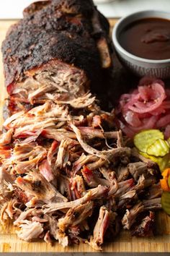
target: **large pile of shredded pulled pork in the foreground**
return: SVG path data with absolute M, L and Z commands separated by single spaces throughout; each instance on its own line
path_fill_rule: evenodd
M 153 234 L 161 208 L 156 163 L 126 145 L 114 114 L 90 93 L 19 111 L 4 130 L 0 221 L 11 219 L 20 239 L 100 250 L 121 229 Z

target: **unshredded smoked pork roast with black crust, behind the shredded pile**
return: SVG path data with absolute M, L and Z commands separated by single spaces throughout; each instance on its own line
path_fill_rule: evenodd
M 71 100 L 89 86 L 94 92 L 102 88 L 112 67 L 112 43 L 109 23 L 93 1 L 37 1 L 23 14 L 2 44 L 13 108 L 17 101 Z

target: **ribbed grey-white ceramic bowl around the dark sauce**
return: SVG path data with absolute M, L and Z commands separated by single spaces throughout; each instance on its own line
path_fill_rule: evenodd
M 144 75 L 159 78 L 170 77 L 170 59 L 153 60 L 140 58 L 130 54 L 120 46 L 118 38 L 122 29 L 135 20 L 148 17 L 157 17 L 169 20 L 170 12 L 148 10 L 135 12 L 126 17 L 122 17 L 122 19 L 116 23 L 112 31 L 112 40 L 115 46 L 115 51 L 122 64 L 140 77 Z

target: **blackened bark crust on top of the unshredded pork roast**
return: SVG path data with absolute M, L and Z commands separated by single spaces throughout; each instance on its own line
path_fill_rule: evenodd
M 24 18 L 9 29 L 2 44 L 6 86 L 55 59 L 83 69 L 91 83 L 100 82 L 97 39 L 104 36 L 109 41 L 109 25 L 99 14 L 100 30 L 96 33 L 94 12 L 91 0 L 40 1 L 27 7 Z

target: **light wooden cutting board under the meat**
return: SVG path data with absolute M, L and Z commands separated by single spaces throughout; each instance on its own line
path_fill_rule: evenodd
M 9 26 L 14 20 L 0 20 L 0 45 Z M 109 20 L 111 26 L 116 20 Z M 2 124 L 2 107 L 6 90 L 0 53 L 0 124 Z M 131 237 L 128 231 L 122 231 L 112 243 L 103 247 L 104 252 L 170 252 L 170 217 L 163 212 L 156 216 L 157 235 L 152 238 Z M 5 229 L 0 226 L 0 252 L 94 252 L 88 244 L 80 244 L 63 249 L 57 242 L 51 247 L 45 242 L 23 242 L 17 239 L 16 230 L 9 224 Z

